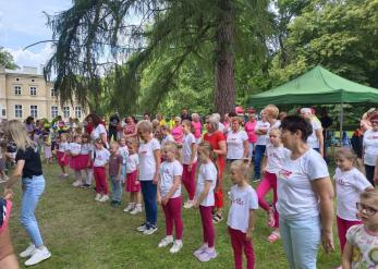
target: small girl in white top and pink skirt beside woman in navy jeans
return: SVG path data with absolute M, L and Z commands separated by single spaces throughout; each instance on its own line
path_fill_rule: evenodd
M 138 143 L 136 140 L 130 142 L 129 157 L 126 166 L 126 187 L 125 191 L 130 193 L 130 203 L 124 212 L 137 215 L 142 212 L 142 197 L 141 197 L 141 182 L 138 181 L 139 157 L 137 155 Z

